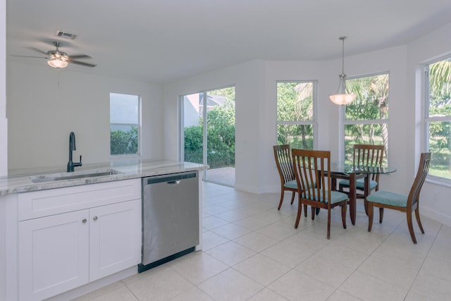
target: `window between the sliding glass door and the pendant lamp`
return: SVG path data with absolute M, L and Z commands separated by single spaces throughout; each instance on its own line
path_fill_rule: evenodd
M 277 82 L 277 142 L 314 148 L 316 82 Z

